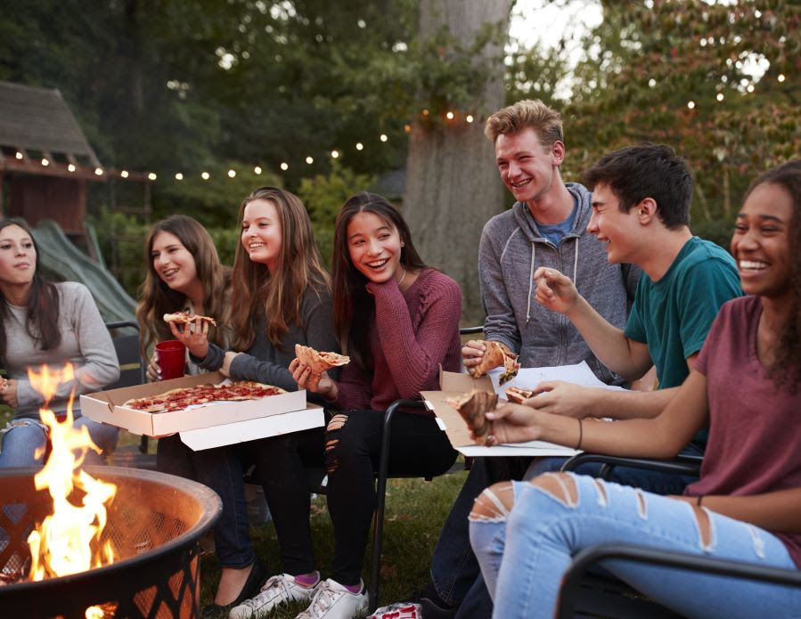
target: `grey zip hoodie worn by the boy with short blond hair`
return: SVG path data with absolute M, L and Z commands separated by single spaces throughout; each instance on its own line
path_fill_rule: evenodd
M 577 183 L 565 186 L 578 199 L 578 212 L 558 248 L 540 234 L 522 202 L 484 226 L 478 246 L 484 336 L 518 353 L 524 368 L 585 360 L 599 379 L 620 384 L 621 379 L 595 358 L 567 317 L 535 300 L 534 272 L 550 266 L 573 280 L 579 294 L 601 316 L 623 329 L 640 278 L 636 266 L 610 265 L 601 241 L 587 232 L 592 194 Z

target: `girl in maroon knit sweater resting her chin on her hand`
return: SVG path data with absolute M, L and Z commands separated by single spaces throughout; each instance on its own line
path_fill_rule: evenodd
M 383 409 L 399 398 L 437 389 L 440 365 L 460 370 L 462 293 L 422 262 L 409 228 L 388 200 L 359 193 L 337 217 L 333 256 L 334 327 L 351 362 L 339 381 L 314 375 L 296 359 L 298 385 L 342 412 L 328 426 L 328 509 L 334 525 L 331 578 L 303 617 L 351 617 L 364 611 L 360 579 L 375 505 Z M 392 423 L 389 473 L 434 476 L 456 458 L 432 415 L 398 412 Z

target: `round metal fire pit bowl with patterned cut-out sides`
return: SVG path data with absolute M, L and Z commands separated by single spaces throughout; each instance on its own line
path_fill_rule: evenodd
M 0 471 L 0 576 L 27 575 L 28 536 L 52 509 L 34 487 L 37 468 Z M 153 471 L 87 467 L 118 485 L 102 542 L 114 563 L 38 582 L 0 586 L 7 617 L 195 617 L 200 606 L 200 535 L 219 516 L 217 494 L 181 477 Z M 2 585 L 2 583 L 0 583 Z M 99 607 L 87 614 L 87 608 Z

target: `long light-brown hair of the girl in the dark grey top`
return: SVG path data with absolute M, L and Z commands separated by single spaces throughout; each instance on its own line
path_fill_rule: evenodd
M 300 325 L 300 304 L 306 289 L 309 286 L 318 292 L 331 289 L 331 281 L 315 244 L 312 222 L 298 196 L 275 187 L 259 187 L 242 200 L 240 228 L 245 207 L 253 200 L 274 204 L 281 221 L 281 251 L 274 273 L 270 273 L 266 265 L 250 260 L 241 243 L 237 245 L 233 259 L 233 289 L 237 302 L 231 308 L 232 347 L 247 350 L 253 344 L 254 325 L 258 315 L 264 312 L 267 339 L 281 349 L 281 340 L 290 325 Z

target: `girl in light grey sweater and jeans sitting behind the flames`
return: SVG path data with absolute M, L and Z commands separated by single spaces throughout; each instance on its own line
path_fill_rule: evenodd
M 45 281 L 38 270 L 36 243 L 21 220 L 0 222 L 0 361 L 8 374 L 0 391 L 14 419 L 3 430 L 0 468 L 41 464 L 47 428 L 39 420 L 43 395 L 31 386 L 29 368 L 61 369 L 72 363 L 75 378 L 61 383 L 48 408 L 65 413 L 69 394 L 102 389 L 119 378 L 119 365 L 109 331 L 89 290 L 74 281 Z M 86 427 L 102 454 L 117 446 L 117 428 L 80 416 L 74 424 Z M 37 457 L 38 454 L 38 457 Z M 99 462 L 90 451 L 87 461 Z

